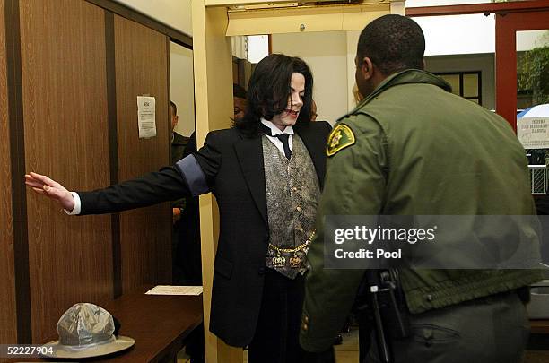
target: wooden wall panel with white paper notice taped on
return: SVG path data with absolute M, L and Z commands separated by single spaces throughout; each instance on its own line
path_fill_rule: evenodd
M 170 162 L 168 39 L 136 22 L 115 16 L 118 176 L 123 181 Z M 156 99 L 156 133 L 139 139 L 137 96 Z M 171 281 L 169 203 L 120 215 L 122 290 Z

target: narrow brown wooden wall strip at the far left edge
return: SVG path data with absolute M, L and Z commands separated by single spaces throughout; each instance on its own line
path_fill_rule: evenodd
M 0 344 L 17 341 L 4 0 L 0 0 Z

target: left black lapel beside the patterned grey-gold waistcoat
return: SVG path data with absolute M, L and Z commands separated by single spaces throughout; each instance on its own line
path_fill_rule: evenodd
M 234 144 L 234 149 L 240 163 L 242 176 L 248 184 L 249 193 L 256 202 L 257 209 L 267 222 L 266 211 L 266 186 L 265 186 L 265 169 L 263 166 L 263 146 L 261 144 L 261 136 L 248 138 L 240 136 L 240 142 Z

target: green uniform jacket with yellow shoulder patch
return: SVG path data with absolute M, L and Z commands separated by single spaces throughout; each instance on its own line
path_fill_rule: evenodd
M 393 74 L 339 120 L 346 127 L 332 131 L 318 235 L 308 255 L 305 350 L 329 348 L 364 273 L 324 269 L 324 216 L 536 214 L 525 152 L 510 125 L 449 91 L 449 84 L 431 73 Z M 531 248 L 539 248 L 536 238 Z M 542 278 L 536 270 L 408 269 L 400 275 L 412 314 Z

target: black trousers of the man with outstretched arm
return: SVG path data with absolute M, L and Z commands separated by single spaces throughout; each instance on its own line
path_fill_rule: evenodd
M 305 295 L 304 277 L 295 280 L 266 269 L 256 333 L 248 346 L 249 363 L 301 363 L 299 336 Z

